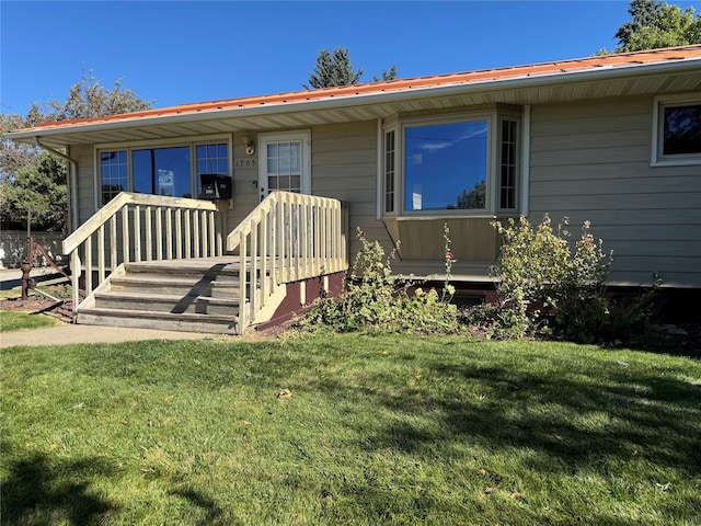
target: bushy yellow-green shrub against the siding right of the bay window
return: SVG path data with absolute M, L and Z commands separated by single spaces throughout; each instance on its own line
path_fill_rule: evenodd
M 604 252 L 589 221 L 573 245 L 568 224 L 564 217 L 553 229 L 548 215 L 536 227 L 524 216 L 493 224 L 504 241 L 492 271 L 499 297 L 495 335 L 556 333 L 593 342 L 622 338 L 648 320 L 656 287 L 628 300 L 612 298 L 606 289 L 612 252 Z

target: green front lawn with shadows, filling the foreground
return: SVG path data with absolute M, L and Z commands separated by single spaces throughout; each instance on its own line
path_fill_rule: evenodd
M 701 523 L 689 358 L 356 334 L 0 359 L 2 524 Z

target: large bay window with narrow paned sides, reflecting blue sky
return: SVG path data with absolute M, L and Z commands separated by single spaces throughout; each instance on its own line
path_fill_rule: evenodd
M 518 117 L 494 111 L 441 121 L 407 119 L 399 130 L 399 144 L 395 128 L 384 132 L 386 215 L 516 211 Z

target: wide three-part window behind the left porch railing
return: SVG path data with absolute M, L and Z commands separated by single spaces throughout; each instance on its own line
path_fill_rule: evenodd
M 102 204 L 122 191 L 199 196 L 202 173 L 229 174 L 228 142 L 100 151 Z

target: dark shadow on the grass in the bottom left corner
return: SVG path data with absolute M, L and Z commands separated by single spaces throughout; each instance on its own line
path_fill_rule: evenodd
M 110 469 L 97 459 L 60 464 L 36 454 L 8 466 L 0 485 L 2 524 L 49 525 L 65 521 L 71 526 L 97 524 L 114 506 L 90 491 L 90 479 Z

